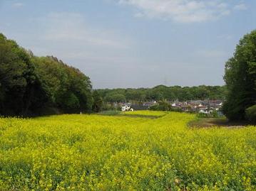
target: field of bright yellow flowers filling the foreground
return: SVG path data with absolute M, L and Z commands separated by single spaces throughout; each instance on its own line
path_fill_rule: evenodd
M 1 118 L 0 190 L 256 190 L 255 126 L 189 129 L 193 119 Z

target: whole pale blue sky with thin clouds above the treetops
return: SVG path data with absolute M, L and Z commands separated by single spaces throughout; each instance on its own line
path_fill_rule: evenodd
M 222 85 L 255 0 L 0 0 L 0 33 L 93 88 Z

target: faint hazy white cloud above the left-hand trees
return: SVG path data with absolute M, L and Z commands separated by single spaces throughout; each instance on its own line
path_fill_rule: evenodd
M 127 48 L 128 41 L 110 30 L 93 28 L 78 13 L 50 13 L 46 18 L 46 40 L 86 46 Z

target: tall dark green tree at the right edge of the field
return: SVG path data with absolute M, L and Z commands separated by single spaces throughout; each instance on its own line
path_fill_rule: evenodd
M 230 120 L 245 119 L 245 109 L 256 101 L 256 31 L 245 35 L 225 64 L 227 100 L 223 112 Z

